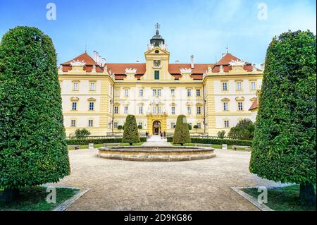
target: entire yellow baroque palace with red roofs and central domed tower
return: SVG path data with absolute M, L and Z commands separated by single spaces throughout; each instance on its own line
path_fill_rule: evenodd
M 165 40 L 156 35 L 145 63 L 106 63 L 97 51 L 58 68 L 67 135 L 86 128 L 92 135 L 120 133 L 134 114 L 140 133 L 173 133 L 178 115 L 187 116 L 191 133 L 228 133 L 243 118 L 255 120 L 256 93 L 263 72 L 232 54 L 218 63 L 170 63 Z M 198 128 L 194 128 L 197 126 Z M 121 131 L 122 132 L 122 131 Z

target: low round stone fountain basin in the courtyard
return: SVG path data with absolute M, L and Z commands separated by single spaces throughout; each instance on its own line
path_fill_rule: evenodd
M 99 147 L 98 156 L 105 159 L 118 159 L 144 162 L 174 162 L 216 157 L 211 147 L 187 146 L 118 146 Z

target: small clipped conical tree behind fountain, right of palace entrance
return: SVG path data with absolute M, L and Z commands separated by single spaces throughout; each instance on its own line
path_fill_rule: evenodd
M 178 120 L 176 122 L 175 132 L 173 136 L 173 144 L 184 145 L 185 143 L 190 143 L 189 128 L 186 116 L 180 115 L 178 116 Z

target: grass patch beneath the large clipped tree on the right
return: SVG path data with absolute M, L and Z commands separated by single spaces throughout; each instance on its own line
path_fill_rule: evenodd
M 258 198 L 257 188 L 244 188 L 245 193 Z M 315 186 L 316 192 L 316 186 Z M 266 205 L 275 211 L 316 211 L 314 206 L 301 206 L 297 204 L 299 185 L 268 189 L 268 203 Z

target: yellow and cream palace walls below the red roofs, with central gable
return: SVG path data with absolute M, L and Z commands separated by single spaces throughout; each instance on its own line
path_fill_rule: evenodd
M 159 54 L 154 54 L 156 50 L 159 50 Z M 150 134 L 153 134 L 154 121 L 161 122 L 161 130 L 173 133 L 172 123 L 176 124 L 180 114 L 185 114 L 187 122 L 192 123 L 191 133 L 213 136 L 220 130 L 228 133 L 242 118 L 254 121 L 255 116 L 249 107 L 256 98 L 256 90 L 261 89 L 261 71 L 247 72 L 236 65 L 228 73 L 213 73 L 209 70 L 203 80 L 193 80 L 190 71 L 185 70 L 181 72 L 180 80 L 175 80 L 168 72 L 168 51 L 155 47 L 144 55 L 147 70 L 140 80 L 135 78 L 133 70 L 127 71 L 124 80 L 115 80 L 106 70 L 103 73 L 88 73 L 84 71 L 83 65 L 74 66 L 68 72 L 58 70 L 67 135 L 73 135 L 78 128 L 87 128 L 91 135 L 120 133 L 116 127 L 124 124 L 128 114 L 134 114 L 137 123 L 142 123 L 141 133 L 148 131 Z M 154 60 L 161 61 L 159 68 L 153 66 Z M 160 71 L 159 80 L 154 79 L 154 71 Z M 223 82 L 228 85 L 226 91 L 222 90 Z M 237 90 L 237 82 L 242 83 L 242 90 Z M 256 83 L 254 90 L 251 90 L 251 82 Z M 73 90 L 74 83 L 77 83 L 78 90 Z M 89 90 L 91 83 L 95 83 L 95 90 Z M 139 95 L 140 89 L 143 90 L 143 96 Z M 161 96 L 154 96 L 154 90 L 161 90 Z M 175 95 L 172 95 L 171 90 L 174 90 Z M 187 96 L 189 90 L 190 97 Z M 125 96 L 127 93 L 128 96 Z M 77 102 L 76 110 L 72 110 L 73 102 Z M 94 102 L 94 110 L 89 110 L 90 102 Z M 223 110 L 223 102 L 228 102 L 228 111 Z M 238 109 L 238 102 L 242 102 L 242 110 Z M 118 107 L 118 113 L 115 107 Z M 128 111 L 125 111 L 125 107 L 128 107 Z M 142 112 L 139 107 L 142 107 Z M 175 114 L 172 114 L 173 107 Z M 188 112 L 189 107 L 191 114 Z M 197 107 L 200 107 L 201 114 L 197 114 Z M 75 121 L 75 126 L 72 126 L 72 121 Z M 89 126 L 89 121 L 93 121 L 92 126 Z M 196 130 L 194 125 L 198 123 L 201 128 Z M 228 127 L 225 127 L 225 123 Z

